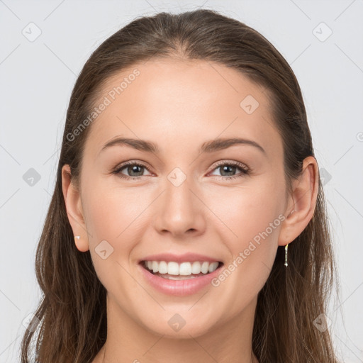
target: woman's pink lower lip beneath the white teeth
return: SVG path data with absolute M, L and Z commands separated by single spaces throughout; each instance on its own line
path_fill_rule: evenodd
M 172 296 L 189 296 L 196 294 L 208 284 L 211 284 L 211 280 L 217 277 L 220 273 L 221 267 L 223 267 L 223 264 L 215 271 L 200 277 L 194 277 L 192 279 L 186 280 L 169 280 L 164 279 L 164 277 L 152 274 L 141 264 L 139 264 L 141 273 L 152 287 L 154 287 L 157 291 L 162 292 L 163 294 L 168 294 Z

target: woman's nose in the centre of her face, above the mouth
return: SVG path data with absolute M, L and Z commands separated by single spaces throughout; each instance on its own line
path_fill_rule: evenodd
M 204 232 L 206 207 L 191 184 L 188 178 L 179 186 L 167 180 L 164 192 L 155 204 L 154 227 L 157 233 L 189 238 Z

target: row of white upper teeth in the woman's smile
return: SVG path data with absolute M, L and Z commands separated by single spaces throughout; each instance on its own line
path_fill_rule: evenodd
M 190 275 L 190 274 L 208 274 L 217 269 L 219 262 L 165 262 L 165 261 L 144 261 L 145 267 L 152 272 L 169 275 Z

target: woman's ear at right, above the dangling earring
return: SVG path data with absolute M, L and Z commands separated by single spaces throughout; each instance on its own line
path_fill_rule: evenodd
M 315 157 L 309 156 L 303 160 L 303 172 L 292 186 L 293 192 L 285 211 L 286 219 L 280 229 L 280 246 L 297 238 L 313 218 L 319 187 L 319 169 Z

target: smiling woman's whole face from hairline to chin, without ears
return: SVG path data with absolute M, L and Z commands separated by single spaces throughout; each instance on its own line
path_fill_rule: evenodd
M 70 221 L 87 231 L 78 229 L 108 313 L 169 337 L 251 315 L 286 215 L 283 146 L 266 89 L 211 62 L 149 60 L 109 79 L 102 102 L 88 126 L 81 217 Z M 177 280 L 165 278 L 168 268 Z

